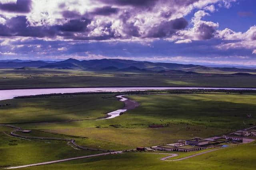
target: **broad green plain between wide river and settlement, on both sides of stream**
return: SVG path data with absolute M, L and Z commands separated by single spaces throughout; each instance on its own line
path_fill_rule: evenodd
M 256 110 L 253 94 L 131 95 L 129 98 L 140 102 L 139 107 L 114 119 L 95 121 L 123 106 L 104 96 L 108 95 L 6 100 L 11 105 L 0 109 L 0 123 L 84 137 L 77 142 L 88 147 L 123 150 L 220 135 L 250 127 L 256 121 L 255 117 L 246 117 Z M 75 119 L 82 121 L 63 121 Z M 152 124 L 164 127 L 149 128 Z

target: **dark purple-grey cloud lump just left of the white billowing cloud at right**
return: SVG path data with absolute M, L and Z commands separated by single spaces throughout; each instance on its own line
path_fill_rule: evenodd
M 160 23 L 155 27 L 152 27 L 147 34 L 147 37 L 162 38 L 173 35 L 177 30 L 184 29 L 188 25 L 188 21 L 184 18 L 177 18 Z

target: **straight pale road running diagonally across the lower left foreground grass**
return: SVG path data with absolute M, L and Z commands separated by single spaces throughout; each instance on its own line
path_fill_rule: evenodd
M 4 169 L 16 169 L 16 168 L 25 168 L 25 167 L 29 167 L 29 166 L 38 166 L 38 165 L 46 165 L 46 164 L 53 164 L 53 163 L 58 163 L 58 162 L 65 162 L 68 160 L 76 160 L 76 159 L 82 159 L 82 158 L 90 158 L 90 157 L 94 157 L 94 156 L 103 156 L 103 155 L 108 155 L 108 154 L 119 154 L 122 151 L 118 151 L 118 152 L 108 152 L 108 153 L 102 153 L 102 154 L 92 154 L 92 155 L 88 155 L 88 156 L 80 156 L 80 157 L 74 157 L 74 158 L 67 158 L 67 159 L 61 159 L 61 160 L 54 160 L 54 161 L 49 161 L 49 162 L 42 162 L 42 163 L 38 163 L 38 164 L 29 164 L 29 165 L 22 165 L 22 166 L 12 166 L 12 167 L 8 167 L 8 168 L 4 168 Z

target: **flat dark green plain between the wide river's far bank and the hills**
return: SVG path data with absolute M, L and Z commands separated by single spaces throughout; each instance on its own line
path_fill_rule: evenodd
M 154 81 L 152 81 L 154 80 Z M 0 89 L 98 86 L 256 87 L 256 76 L 0 69 Z

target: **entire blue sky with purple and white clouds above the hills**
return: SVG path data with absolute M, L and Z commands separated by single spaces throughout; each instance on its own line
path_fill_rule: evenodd
M 256 66 L 255 0 L 0 0 L 0 60 Z

